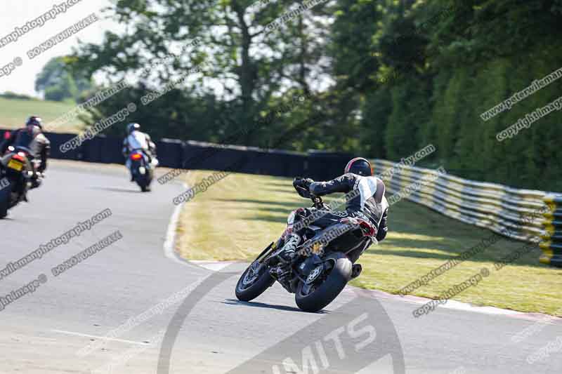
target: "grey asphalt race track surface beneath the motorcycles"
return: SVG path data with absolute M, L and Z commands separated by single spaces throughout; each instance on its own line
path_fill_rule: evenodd
M 540 316 L 445 307 L 414 319 L 412 310 L 420 306 L 415 300 L 377 292 L 357 296 L 353 288 L 319 314 L 300 312 L 293 296 L 277 285 L 255 302 L 237 302 L 233 273 L 244 265 L 233 265 L 230 274 L 212 281 L 219 273 L 164 253 L 175 208 L 171 201 L 182 191 L 176 182 L 156 183 L 152 193 L 142 194 L 122 167 L 53 163 L 44 186 L 30 193 L 30 203 L 0 221 L 0 268 L 77 221 L 105 208 L 113 214 L 0 280 L 4 296 L 39 274 L 47 278 L 0 312 L 0 373 L 107 373 L 104 368 L 117 361 L 112 373 L 562 373 L 562 351 L 526 361 L 562 337 L 559 320 L 537 325 Z M 121 240 L 53 276 L 52 267 L 115 230 Z M 203 279 L 211 280 L 209 285 L 196 288 L 186 301 L 102 339 Z M 338 330 L 345 339 L 350 323 L 357 327 L 361 315 L 363 327 L 375 326 L 372 334 L 365 333 L 368 329 L 355 334 L 341 347 L 343 358 L 334 359 L 336 339 L 326 336 Z M 529 326 L 542 328 L 522 342 L 512 340 Z M 359 347 L 361 342 L 365 345 Z M 86 356 L 77 353 L 98 343 Z M 285 368 L 283 361 L 297 368 Z

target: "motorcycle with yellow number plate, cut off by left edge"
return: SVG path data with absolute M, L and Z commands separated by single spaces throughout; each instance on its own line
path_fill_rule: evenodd
M 27 191 L 34 176 L 31 150 L 26 147 L 8 147 L 0 157 L 0 219 L 8 209 L 27 201 Z

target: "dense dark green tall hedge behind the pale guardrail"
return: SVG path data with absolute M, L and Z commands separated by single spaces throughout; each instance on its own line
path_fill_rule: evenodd
M 398 160 L 432 143 L 438 152 L 424 160 L 430 166 L 443 165 L 466 178 L 561 191 L 562 181 L 555 176 L 562 171 L 561 155 L 555 151 L 562 140 L 561 112 L 504 142 L 495 135 L 558 98 L 562 79 L 490 121 L 480 117 L 562 67 L 556 36 L 560 5 L 561 1 L 523 0 L 383 1 L 379 8 L 384 17 L 371 16 L 379 25 L 370 39 L 377 51 L 369 75 L 373 86 L 367 92 L 354 91 L 362 98 L 363 114 L 378 114 L 361 121 L 362 133 L 369 134 L 372 144 L 363 149 L 370 156 Z M 334 27 L 353 22 L 358 17 L 355 9 L 339 13 L 343 19 Z M 348 27 L 348 36 L 355 35 L 356 29 Z M 361 36 L 346 41 L 347 46 L 364 43 Z M 336 59 L 335 67 L 339 60 L 353 61 L 355 50 Z M 348 72 L 345 79 L 338 77 L 343 88 L 355 88 L 351 82 L 365 79 L 365 74 Z M 374 85 L 377 81 L 381 86 Z M 374 131 L 384 140 L 373 140 Z

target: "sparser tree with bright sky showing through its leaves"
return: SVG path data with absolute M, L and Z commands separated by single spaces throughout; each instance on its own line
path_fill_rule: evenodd
M 118 1 L 109 12 L 128 25 L 126 32 L 106 32 L 103 44 L 82 46 L 74 56 L 74 67 L 88 74 L 105 72 L 110 82 L 134 76 L 143 88 L 155 91 L 200 66 L 202 74 L 176 88 L 189 93 L 201 108 L 209 109 L 204 103 L 213 97 L 219 103 L 214 110 L 222 112 L 210 117 L 222 121 L 179 121 L 174 133 L 190 134 L 196 131 L 192 126 L 206 128 L 209 134 L 232 133 L 268 114 L 295 92 L 311 93 L 311 84 L 324 72 L 322 45 L 327 30 L 318 26 L 327 17 L 326 7 L 294 13 L 289 22 L 272 31 L 267 25 L 298 4 L 288 0 L 264 6 L 255 3 Z M 173 122 L 169 117 L 173 111 L 166 108 L 177 107 L 174 98 L 166 94 L 150 104 L 151 112 L 159 114 L 155 122 Z M 105 104 L 98 109 L 94 119 L 112 114 Z M 285 126 L 291 126 L 288 117 L 280 118 Z M 240 142 L 257 145 L 263 136 L 274 134 L 273 129 L 264 128 L 248 133 Z

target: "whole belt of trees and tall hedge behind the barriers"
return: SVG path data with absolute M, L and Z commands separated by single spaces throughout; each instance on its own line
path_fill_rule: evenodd
M 293 13 L 269 32 L 266 25 L 299 4 L 119 0 L 110 13 L 126 31 L 107 32 L 103 44 L 86 44 L 68 61 L 108 82 L 136 81 L 93 110 L 94 120 L 204 67 L 150 105 L 139 105 L 134 120 L 156 137 L 220 142 L 257 124 L 228 139 L 263 145 L 304 123 L 287 148 L 399 160 L 432 143 L 438 152 L 426 165 L 466 178 L 562 190 L 556 178 L 562 112 L 515 138 L 495 138 L 558 98 L 562 79 L 489 121 L 480 116 L 562 67 L 562 0 L 328 1 Z M 169 55 L 177 58 L 162 62 Z M 307 100 L 292 105 L 299 95 Z M 273 112 L 279 112 L 273 121 L 259 121 Z

